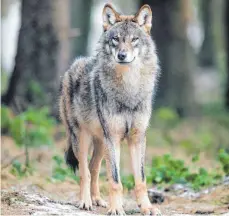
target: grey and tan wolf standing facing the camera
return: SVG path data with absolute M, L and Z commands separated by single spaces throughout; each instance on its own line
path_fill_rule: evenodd
M 68 139 L 66 161 L 79 168 L 79 208 L 107 207 L 99 191 L 99 171 L 106 160 L 108 214 L 125 214 L 120 179 L 120 143 L 127 140 L 137 203 L 143 214 L 155 214 L 144 172 L 146 129 L 159 74 L 150 36 L 152 11 L 144 5 L 122 15 L 110 4 L 102 13 L 103 33 L 96 54 L 75 60 L 60 87 L 60 116 Z M 93 153 L 88 164 L 88 149 Z

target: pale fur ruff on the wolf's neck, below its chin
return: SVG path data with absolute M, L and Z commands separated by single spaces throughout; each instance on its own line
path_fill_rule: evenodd
M 144 68 L 128 65 L 104 67 L 100 73 L 101 85 L 109 98 L 135 107 L 152 91 L 152 75 Z

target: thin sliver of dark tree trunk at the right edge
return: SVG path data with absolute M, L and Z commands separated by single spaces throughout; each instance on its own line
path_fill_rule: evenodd
M 225 39 L 226 39 L 226 71 L 227 71 L 227 85 L 226 85 L 226 107 L 229 110 L 229 1 L 226 0 L 225 4 Z

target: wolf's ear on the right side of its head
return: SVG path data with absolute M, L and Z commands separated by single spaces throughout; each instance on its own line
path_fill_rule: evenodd
M 138 13 L 135 15 L 134 20 L 141 26 L 143 29 L 150 34 L 152 27 L 152 11 L 149 5 L 143 5 Z

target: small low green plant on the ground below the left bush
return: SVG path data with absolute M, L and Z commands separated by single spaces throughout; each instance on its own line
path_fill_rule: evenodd
M 24 167 L 18 160 L 14 160 L 10 172 L 19 178 L 26 177 L 33 173 L 34 169 L 30 167 Z

